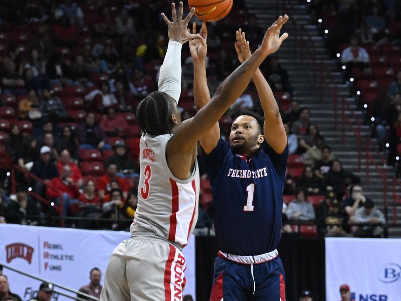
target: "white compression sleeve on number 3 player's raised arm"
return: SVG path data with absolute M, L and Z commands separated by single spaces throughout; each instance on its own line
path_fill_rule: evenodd
M 182 44 L 176 41 L 168 42 L 167 53 L 160 68 L 158 88 L 166 92 L 178 104 L 181 95 L 181 49 Z

